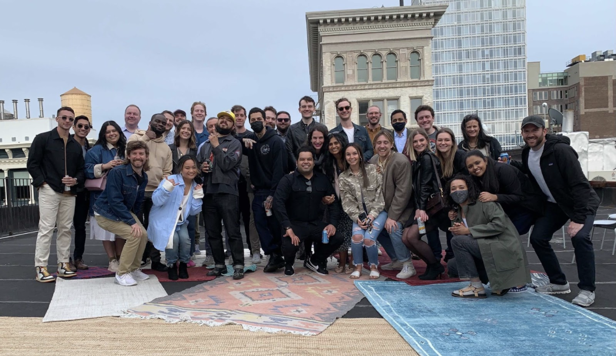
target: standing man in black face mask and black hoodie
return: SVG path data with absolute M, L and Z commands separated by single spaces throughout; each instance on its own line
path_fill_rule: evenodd
M 270 255 L 264 272 L 275 272 L 285 266 L 282 258 L 280 224 L 272 215 L 272 200 L 278 182 L 288 171 L 286 150 L 276 130 L 266 127 L 265 112 L 252 108 L 248 114 L 250 127 L 254 133 L 245 136 L 255 141 L 251 148 L 243 147 L 248 156 L 251 182 L 254 186 L 253 214 L 259 232 L 261 247 L 265 255 Z

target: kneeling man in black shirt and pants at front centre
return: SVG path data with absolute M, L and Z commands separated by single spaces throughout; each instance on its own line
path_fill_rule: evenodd
M 313 148 L 300 148 L 297 170 L 283 176 L 274 194 L 274 214 L 285 229 L 282 252 L 288 276 L 295 274 L 295 255 L 304 240 L 315 243 L 314 254 L 307 259 L 306 267 L 320 275 L 328 274 L 326 259 L 344 240 L 335 227 L 340 220 L 339 205 L 321 203 L 323 197 L 336 193 L 327 176 L 314 171 L 314 157 Z M 328 223 L 322 221 L 325 208 Z

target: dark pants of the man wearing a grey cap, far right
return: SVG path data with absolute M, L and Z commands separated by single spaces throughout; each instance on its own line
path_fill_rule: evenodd
M 578 233 L 571 238 L 575 261 L 578 268 L 578 287 L 581 290 L 594 291 L 594 250 L 593 240 L 590 232 L 593 229 L 595 215 L 587 215 L 584 226 Z M 535 227 L 530 233 L 530 244 L 533 245 L 535 253 L 545 273 L 549 277 L 549 282 L 559 285 L 567 283 L 567 277 L 562 272 L 561 265 L 558 263 L 556 253 L 552 250 L 549 240 L 552 239 L 554 232 L 561 229 L 567 223 L 567 216 L 562 209 L 551 202 L 546 203 L 545 214 L 535 221 Z M 563 236 L 565 239 L 566 236 Z

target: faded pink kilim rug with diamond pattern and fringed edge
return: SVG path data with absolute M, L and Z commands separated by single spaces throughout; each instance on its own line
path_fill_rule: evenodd
M 257 271 L 241 280 L 219 277 L 132 308 L 124 317 L 209 326 L 233 323 L 251 331 L 316 335 L 362 298 L 348 275 L 330 271 L 321 276 L 298 266 L 293 277 L 282 271 Z

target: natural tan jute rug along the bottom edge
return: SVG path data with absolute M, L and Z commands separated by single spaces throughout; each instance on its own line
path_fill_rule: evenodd
M 76 320 L 54 326 L 49 328 L 40 318 L 0 317 L 0 355 L 417 355 L 389 323 L 378 318 L 338 319 L 323 333 L 310 337 L 251 333 L 238 325 L 208 328 L 126 318 Z M 58 332 L 71 337 L 55 337 Z

